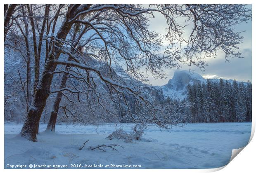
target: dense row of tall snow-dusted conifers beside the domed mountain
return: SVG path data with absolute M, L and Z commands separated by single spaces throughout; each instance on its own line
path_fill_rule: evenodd
M 251 122 L 251 82 L 212 80 L 188 84 L 182 101 L 166 99 L 183 115 L 183 122 Z M 187 108 L 180 109 L 187 103 Z

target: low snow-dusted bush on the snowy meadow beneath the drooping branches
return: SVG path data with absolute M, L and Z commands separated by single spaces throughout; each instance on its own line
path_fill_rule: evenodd
M 132 130 L 133 130 L 132 132 L 127 133 L 121 128 L 116 129 L 116 131 L 113 131 L 113 133 L 111 133 L 107 138 L 109 138 L 109 140 L 112 140 L 112 139 L 124 140 L 125 142 L 140 140 L 144 133 L 143 126 L 141 124 L 136 124 Z

